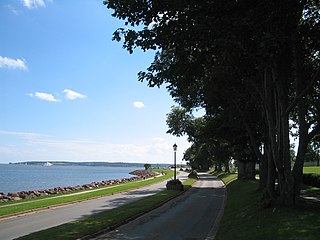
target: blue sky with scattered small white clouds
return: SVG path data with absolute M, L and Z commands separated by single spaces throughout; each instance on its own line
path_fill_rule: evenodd
M 0 163 L 172 163 L 176 105 L 137 80 L 154 52 L 129 54 L 102 0 L 0 1 Z

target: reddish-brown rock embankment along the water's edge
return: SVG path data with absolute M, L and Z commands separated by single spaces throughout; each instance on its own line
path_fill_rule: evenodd
M 151 177 L 154 177 L 157 175 L 157 173 L 155 173 L 155 172 L 146 171 L 146 170 L 136 170 L 136 171 L 130 172 L 130 174 L 136 175 L 136 177 L 105 180 L 105 181 L 101 181 L 101 182 L 92 182 L 89 184 L 77 185 L 74 187 L 71 187 L 71 186 L 56 187 L 56 188 L 46 189 L 46 190 L 11 192 L 8 194 L 0 193 L 0 202 L 18 201 L 18 200 L 22 200 L 22 199 L 31 199 L 31 198 L 35 198 L 35 197 L 41 197 L 41 196 L 48 196 L 48 195 L 68 193 L 68 192 L 73 192 L 73 191 L 94 189 L 94 188 L 99 188 L 99 187 L 116 185 L 116 184 L 120 184 L 120 183 L 133 182 L 133 181 L 137 181 L 137 180 L 141 180 L 141 179 L 151 178 Z

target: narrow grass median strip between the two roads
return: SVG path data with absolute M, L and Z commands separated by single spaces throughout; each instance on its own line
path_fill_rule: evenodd
M 195 179 L 186 180 L 183 185 L 187 190 L 195 182 Z M 165 190 L 155 195 L 145 197 L 141 200 L 127 205 L 107 210 L 78 221 L 62 224 L 40 232 L 19 238 L 20 240 L 71 240 L 88 235 L 94 235 L 101 231 L 110 230 L 130 219 L 134 219 L 156 207 L 161 206 L 170 199 L 180 195 L 181 191 Z

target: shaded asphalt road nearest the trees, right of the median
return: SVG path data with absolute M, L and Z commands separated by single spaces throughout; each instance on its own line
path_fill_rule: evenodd
M 94 240 L 213 239 L 223 213 L 225 188 L 209 174 L 176 200 Z

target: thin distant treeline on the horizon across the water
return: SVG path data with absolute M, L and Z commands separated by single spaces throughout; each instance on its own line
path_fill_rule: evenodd
M 20 165 L 44 165 L 47 161 L 26 161 L 10 164 L 20 164 Z M 50 161 L 53 165 L 59 166 L 99 166 L 99 167 L 139 167 L 144 168 L 144 163 L 126 163 L 126 162 L 66 162 L 66 161 Z M 151 164 L 153 168 L 166 168 L 169 164 Z

